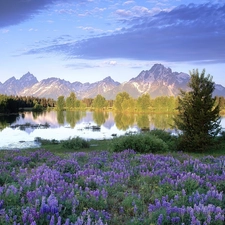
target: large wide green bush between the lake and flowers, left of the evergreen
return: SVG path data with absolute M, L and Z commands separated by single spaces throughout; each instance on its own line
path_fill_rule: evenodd
M 124 149 L 133 149 L 139 153 L 166 152 L 168 145 L 160 138 L 149 134 L 135 134 L 120 136 L 112 139 L 110 149 L 120 152 Z

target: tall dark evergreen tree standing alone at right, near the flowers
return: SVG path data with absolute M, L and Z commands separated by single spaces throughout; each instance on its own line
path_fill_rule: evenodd
M 181 146 L 187 151 L 203 151 L 221 130 L 219 105 L 212 96 L 215 89 L 210 75 L 205 70 L 190 73 L 189 92 L 181 90 L 178 98 L 179 114 L 175 126 L 182 131 Z

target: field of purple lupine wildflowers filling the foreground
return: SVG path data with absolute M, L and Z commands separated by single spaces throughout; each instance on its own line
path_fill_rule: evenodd
M 224 224 L 225 156 L 5 151 L 1 225 Z

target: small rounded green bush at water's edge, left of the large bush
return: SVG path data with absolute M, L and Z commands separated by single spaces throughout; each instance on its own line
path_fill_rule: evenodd
M 61 141 L 63 148 L 78 150 L 81 148 L 89 148 L 90 143 L 80 137 L 69 138 L 68 140 Z

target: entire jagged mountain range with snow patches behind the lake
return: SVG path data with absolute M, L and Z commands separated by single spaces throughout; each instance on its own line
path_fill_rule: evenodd
M 158 96 L 177 96 L 180 89 L 187 91 L 190 75 L 183 72 L 172 72 L 162 64 L 155 64 L 150 70 L 143 70 L 137 77 L 127 82 L 119 83 L 111 77 L 95 82 L 81 83 L 69 82 L 55 77 L 38 81 L 30 72 L 20 79 L 12 77 L 4 83 L 0 82 L 0 94 L 35 96 L 40 98 L 57 99 L 60 95 L 65 97 L 74 92 L 78 99 L 95 98 L 97 94 L 106 99 L 115 99 L 119 92 L 126 91 L 133 98 L 149 93 L 151 98 Z M 215 84 L 214 96 L 225 97 L 225 87 Z

